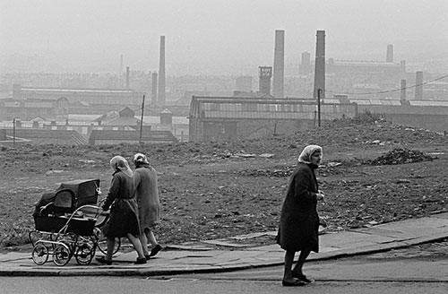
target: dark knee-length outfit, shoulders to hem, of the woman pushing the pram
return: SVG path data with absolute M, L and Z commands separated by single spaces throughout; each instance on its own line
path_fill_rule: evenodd
M 110 207 L 111 206 L 111 207 Z M 108 222 L 103 228 L 106 237 L 125 237 L 126 234 L 140 235 L 137 203 L 134 197 L 134 178 L 116 171 L 108 191 L 103 209 L 110 207 Z

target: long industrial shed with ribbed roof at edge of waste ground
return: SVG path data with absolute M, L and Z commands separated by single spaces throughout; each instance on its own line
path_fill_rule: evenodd
M 356 117 L 356 104 L 325 103 L 321 119 Z M 231 141 L 262 138 L 271 134 L 293 134 L 316 123 L 314 99 L 276 99 L 247 97 L 198 97 L 190 105 L 189 139 Z

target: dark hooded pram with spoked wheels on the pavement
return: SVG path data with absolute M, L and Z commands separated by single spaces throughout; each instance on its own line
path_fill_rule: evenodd
M 90 264 L 105 220 L 97 206 L 100 193 L 99 179 L 83 179 L 42 195 L 33 212 L 36 228 L 29 234 L 35 264 L 47 263 L 49 255 L 59 266 L 68 264 L 73 255 L 78 264 Z

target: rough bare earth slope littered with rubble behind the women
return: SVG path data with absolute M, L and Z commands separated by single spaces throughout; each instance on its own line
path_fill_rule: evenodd
M 163 244 L 277 229 L 289 175 L 309 143 L 323 146 L 317 177 L 326 202 L 318 209 L 329 230 L 426 216 L 448 208 L 447 142 L 379 121 L 236 143 L 0 147 L 1 247 L 28 242 L 43 193 L 64 181 L 99 178 L 104 196 L 108 160 L 118 154 L 130 160 L 137 151 L 159 172 Z

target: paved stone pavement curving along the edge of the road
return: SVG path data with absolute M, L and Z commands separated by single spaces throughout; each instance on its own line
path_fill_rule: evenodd
M 120 250 L 112 265 L 77 264 L 72 258 L 65 266 L 51 261 L 34 264 L 30 252 L 8 251 L 0 254 L 0 276 L 163 276 L 181 273 L 229 272 L 283 264 L 284 251 L 278 245 L 253 246 L 251 239 L 275 236 L 276 232 L 254 233 L 234 238 L 205 240 L 178 246 L 165 246 L 147 264 L 134 264 L 136 254 Z M 448 238 L 448 212 L 429 217 L 402 220 L 367 228 L 323 232 L 319 253 L 307 261 L 351 255 L 366 255 L 394 248 L 434 242 Z M 244 240 L 241 242 L 238 240 Z M 99 254 L 101 255 L 101 254 Z M 98 255 L 97 255 L 98 256 Z

